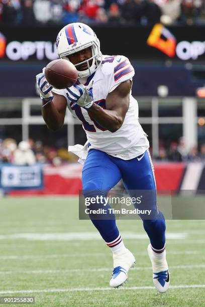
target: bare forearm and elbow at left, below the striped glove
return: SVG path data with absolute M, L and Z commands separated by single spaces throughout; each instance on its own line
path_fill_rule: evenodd
M 65 97 L 54 94 L 50 103 L 45 105 L 47 102 L 44 100 L 42 100 L 42 103 L 42 116 L 47 127 L 54 131 L 60 129 L 63 126 L 65 119 L 67 106 Z

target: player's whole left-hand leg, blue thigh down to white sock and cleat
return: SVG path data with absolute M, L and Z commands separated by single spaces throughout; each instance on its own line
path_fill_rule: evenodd
M 106 197 L 121 179 L 119 168 L 111 161 L 110 156 L 105 152 L 91 149 L 88 153 L 82 171 L 82 186 L 84 197 L 93 197 L 97 200 Z M 114 259 L 114 270 L 110 285 L 118 287 L 127 280 L 128 270 L 134 264 L 135 257 L 124 246 L 116 225 L 115 215 L 109 211 L 111 206 L 105 201 L 94 203 L 89 209 L 105 209 L 106 215 L 101 217 L 90 215 L 93 225 L 99 231 L 106 244 L 112 249 Z

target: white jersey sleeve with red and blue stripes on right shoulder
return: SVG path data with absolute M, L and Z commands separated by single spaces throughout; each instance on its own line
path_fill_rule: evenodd
M 132 80 L 135 70 L 128 58 L 117 56 L 113 62 L 113 74 L 110 78 L 109 93 L 112 92 L 120 83 Z

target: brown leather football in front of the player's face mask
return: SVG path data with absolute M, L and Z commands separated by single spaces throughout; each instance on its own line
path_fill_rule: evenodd
M 54 60 L 45 68 L 46 80 L 57 89 L 70 87 L 77 81 L 77 69 L 75 66 L 63 59 Z

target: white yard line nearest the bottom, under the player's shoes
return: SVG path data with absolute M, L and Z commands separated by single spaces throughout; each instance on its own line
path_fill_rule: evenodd
M 205 284 L 179 284 L 179 285 L 170 285 L 170 289 L 184 289 L 184 288 L 204 288 Z M 114 289 L 111 287 L 102 287 L 102 288 L 69 288 L 69 289 L 43 289 L 43 290 L 7 290 L 7 291 L 0 291 L 0 294 L 13 294 L 13 293 L 54 293 L 54 292 L 76 292 L 76 291 L 124 291 L 124 290 L 146 290 L 146 289 L 155 289 L 152 286 L 141 286 L 141 287 L 122 287 L 119 289 Z

